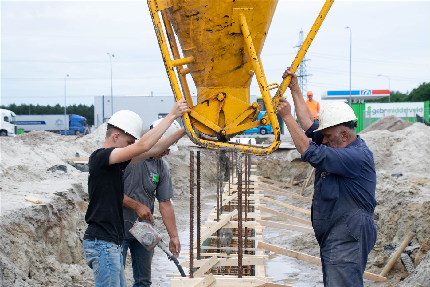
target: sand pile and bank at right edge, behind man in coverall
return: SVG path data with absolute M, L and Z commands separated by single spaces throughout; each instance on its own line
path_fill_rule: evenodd
M 411 256 L 417 266 L 429 250 L 430 128 L 415 123 L 399 131 L 369 131 L 361 136 L 374 153 L 377 171 L 374 217 L 378 237 L 368 267 L 381 271 L 388 260 L 384 244 L 402 242 L 409 232 L 415 233 L 413 242 L 421 245 Z M 396 282 L 405 272 L 398 261 L 388 278 Z

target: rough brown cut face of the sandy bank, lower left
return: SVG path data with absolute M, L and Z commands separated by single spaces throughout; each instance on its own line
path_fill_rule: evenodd
M 91 285 L 82 237 L 88 195 L 82 184 L 49 203 L 2 216 L 0 254 L 5 286 Z

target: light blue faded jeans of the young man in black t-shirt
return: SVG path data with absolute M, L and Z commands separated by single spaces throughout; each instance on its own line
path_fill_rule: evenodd
M 96 287 L 126 287 L 122 247 L 108 241 L 83 240 L 86 264 L 94 274 Z

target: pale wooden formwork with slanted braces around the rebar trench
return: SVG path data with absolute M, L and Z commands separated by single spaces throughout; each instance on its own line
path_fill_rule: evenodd
M 252 167 L 251 171 L 255 171 L 254 168 L 256 166 L 252 165 Z M 230 184 L 230 189 L 229 185 L 225 184 L 224 189 L 221 191 L 223 198 L 221 209 L 223 212 L 219 215 L 219 221 L 216 221 L 216 207 L 214 207 L 209 213 L 202 214 L 203 216 L 206 216 L 206 221 L 201 225 L 201 259 L 194 259 L 194 278 L 178 278 L 180 275 L 168 275 L 175 277 L 171 281 L 171 286 L 289 286 L 269 282 L 270 280 L 273 280 L 273 278 L 267 276 L 266 259 L 268 256 L 265 255 L 266 250 L 294 257 L 316 265 L 321 264 L 318 257 L 309 256 L 294 250 L 288 250 L 279 246 L 264 243 L 263 231 L 266 227 L 282 228 L 311 234 L 313 234 L 313 229 L 310 228 L 310 226 L 312 226 L 310 220 L 286 213 L 287 210 L 293 210 L 301 212 L 301 214 L 306 217 L 310 215 L 310 210 L 270 199 L 265 197 L 263 192 L 308 202 L 311 201 L 312 198 L 304 197 L 299 194 L 300 191 L 295 192 L 295 190 L 292 190 L 291 188 L 295 188 L 293 184 L 285 184 L 254 175 L 249 178 L 248 214 L 247 220 L 243 220 L 242 224 L 243 228 L 247 227 L 248 238 L 246 244 L 244 243 L 243 246 L 243 278 L 238 278 L 237 276 L 237 184 Z M 237 178 L 230 177 L 230 181 L 237 182 Z M 305 181 L 304 184 L 308 181 L 309 180 Z M 285 188 L 290 188 L 290 190 L 286 190 Z M 286 208 L 286 212 L 280 212 L 265 207 L 265 203 L 282 206 Z M 216 206 L 216 203 L 208 203 L 207 205 Z M 262 215 L 261 211 L 270 213 L 271 215 Z M 265 220 L 273 215 L 287 218 L 309 227 Z M 222 246 L 220 244 L 220 247 L 217 247 L 217 231 L 221 228 L 233 229 L 233 239 L 229 246 Z M 194 242 L 193 247 L 197 247 L 197 242 Z M 226 250 L 231 250 L 231 254 L 227 254 Z M 184 261 L 180 265 L 189 267 L 189 261 Z M 365 272 L 363 277 L 375 282 L 385 282 L 387 280 L 384 276 L 372 274 L 370 272 Z

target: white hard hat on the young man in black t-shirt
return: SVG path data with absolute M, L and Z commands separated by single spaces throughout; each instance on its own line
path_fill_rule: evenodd
M 131 135 L 137 140 L 141 137 L 143 122 L 135 112 L 125 109 L 118 111 L 111 116 L 111 119 L 107 123 L 122 129 L 126 134 Z

